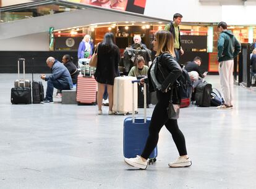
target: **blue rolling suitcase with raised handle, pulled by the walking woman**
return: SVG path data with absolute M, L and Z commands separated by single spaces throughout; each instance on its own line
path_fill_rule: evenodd
M 140 82 L 140 80 L 132 81 L 133 83 Z M 132 98 L 132 117 L 124 119 L 124 157 L 135 158 L 141 155 L 148 138 L 148 127 L 151 118 L 146 117 L 147 111 L 147 87 L 144 84 L 144 118 L 136 117 L 134 112 L 134 97 Z M 134 87 L 132 88 L 134 90 Z M 133 93 L 134 94 L 134 93 Z M 149 156 L 149 163 L 156 161 L 157 147 L 152 151 Z

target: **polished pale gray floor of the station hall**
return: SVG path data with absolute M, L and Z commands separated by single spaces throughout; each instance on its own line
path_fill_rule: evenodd
M 220 89 L 218 76 L 207 77 Z M 163 127 L 157 161 L 142 171 L 123 161 L 125 116 L 58 102 L 11 105 L 15 78 L 0 74 L 0 188 L 256 188 L 255 89 L 235 86 L 233 110 L 183 108 L 192 166 L 168 167 L 178 153 Z

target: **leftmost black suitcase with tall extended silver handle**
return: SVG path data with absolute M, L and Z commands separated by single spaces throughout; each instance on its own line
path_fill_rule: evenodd
M 20 104 L 31 103 L 31 88 L 30 87 L 20 87 L 20 61 L 23 62 L 23 76 L 25 81 L 25 59 L 19 58 L 18 59 L 18 87 L 14 87 L 11 89 L 11 103 L 12 104 Z

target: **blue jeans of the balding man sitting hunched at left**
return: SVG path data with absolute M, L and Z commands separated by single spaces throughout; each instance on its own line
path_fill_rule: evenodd
M 59 90 L 69 90 L 69 84 L 62 84 L 58 80 L 56 81 L 47 81 L 47 89 L 46 89 L 46 97 L 45 100 L 49 100 L 53 102 L 53 89 L 59 89 Z

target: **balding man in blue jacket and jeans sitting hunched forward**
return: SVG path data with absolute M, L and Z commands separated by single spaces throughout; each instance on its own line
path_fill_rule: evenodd
M 69 70 L 55 60 L 53 57 L 48 57 L 46 60 L 47 66 L 51 68 L 51 73 L 49 76 L 45 74 L 41 75 L 41 79 L 47 81 L 46 97 L 41 103 L 53 103 L 53 88 L 59 90 L 69 90 L 72 89 L 73 83 L 69 73 Z

